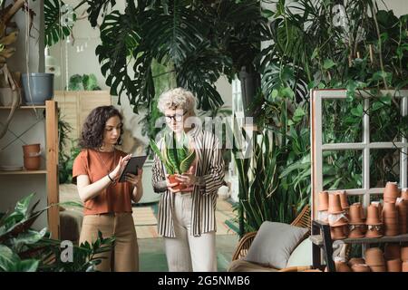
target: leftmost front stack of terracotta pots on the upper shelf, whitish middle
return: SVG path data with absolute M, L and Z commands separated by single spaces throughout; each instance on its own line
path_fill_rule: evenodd
M 330 234 L 332 239 L 343 239 L 348 235 L 348 220 L 346 218 L 346 207 L 348 204 L 343 204 L 342 207 L 341 195 L 345 193 L 335 192 L 328 195 L 328 220 L 330 225 Z M 345 196 L 343 197 L 345 198 Z

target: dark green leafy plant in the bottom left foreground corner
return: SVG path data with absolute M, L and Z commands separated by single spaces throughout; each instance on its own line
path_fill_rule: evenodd
M 44 227 L 32 228 L 34 221 L 48 208 L 35 210 L 39 200 L 30 208 L 34 194 L 19 200 L 13 211 L 0 215 L 0 272 L 63 272 L 95 271 L 102 262 L 102 253 L 111 251 L 114 237 L 98 238 L 92 244 L 73 246 L 73 262 L 61 259 L 61 241 L 50 238 Z M 74 202 L 66 202 L 78 206 Z

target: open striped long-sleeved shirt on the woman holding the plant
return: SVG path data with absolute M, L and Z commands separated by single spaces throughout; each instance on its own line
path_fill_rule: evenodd
M 218 138 L 209 131 L 199 127 L 188 132 L 195 143 L 197 155 L 196 176 L 205 179 L 205 186 L 194 186 L 191 193 L 191 232 L 190 235 L 200 236 L 203 233 L 216 231 L 215 210 L 217 192 L 224 181 L 224 160 Z M 163 138 L 159 141 L 161 150 Z M 167 188 L 158 186 L 165 180 L 166 169 L 158 156 L 154 155 L 152 184 L 155 192 L 163 192 L 159 202 L 158 231 L 163 237 L 176 237 L 173 224 L 174 194 Z

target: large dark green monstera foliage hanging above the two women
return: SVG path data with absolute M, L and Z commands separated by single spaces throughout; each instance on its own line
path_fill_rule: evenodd
M 112 95 L 126 93 L 135 112 L 150 108 L 156 95 L 155 62 L 169 67 L 175 86 L 198 96 L 199 108 L 221 106 L 215 82 L 221 74 L 232 79 L 242 67 L 256 66 L 267 25 L 259 1 L 128 0 L 124 13 L 114 10 L 112 0 L 87 3 L 93 27 L 103 14 L 96 54 L 106 84 Z

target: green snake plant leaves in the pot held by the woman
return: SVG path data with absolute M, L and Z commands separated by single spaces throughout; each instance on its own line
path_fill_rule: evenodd
M 171 135 L 166 134 L 161 150 L 154 140 L 151 140 L 150 143 L 151 150 L 157 154 L 170 175 L 187 172 L 196 158 L 196 152 L 189 149 L 188 138 L 185 133 L 183 133 L 180 140 L 176 138 L 174 133 Z

